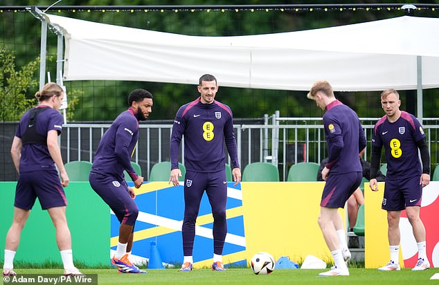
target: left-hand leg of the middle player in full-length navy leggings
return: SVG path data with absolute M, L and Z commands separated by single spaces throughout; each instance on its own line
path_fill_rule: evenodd
M 197 221 L 199 204 L 206 189 L 206 174 L 187 171 L 184 179 L 184 218 L 181 226 L 183 239 L 183 265 L 181 271 L 192 270 L 193 247 L 195 240 L 195 222 Z

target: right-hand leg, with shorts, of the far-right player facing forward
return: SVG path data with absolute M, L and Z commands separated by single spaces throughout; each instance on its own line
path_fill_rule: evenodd
M 424 223 L 420 219 L 420 201 L 422 199 L 422 185 L 419 184 L 419 177 L 407 179 L 406 187 L 402 189 L 406 203 L 406 214 L 416 243 L 418 243 L 418 262 L 413 268 L 414 271 L 427 270 L 430 262 L 427 257 L 427 241 Z

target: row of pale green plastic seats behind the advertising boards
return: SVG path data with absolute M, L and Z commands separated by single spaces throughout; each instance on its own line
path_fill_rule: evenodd
M 141 166 L 138 163 L 131 163 L 137 174 L 142 175 Z M 386 164 L 382 165 L 380 171 L 386 175 Z M 89 181 L 89 174 L 91 171 L 91 163 L 88 161 L 71 161 L 64 165 L 66 172 L 69 174 L 71 181 Z M 186 174 L 186 167 L 179 163 L 183 181 Z M 319 164 L 317 163 L 296 163 L 289 168 L 287 181 L 316 181 L 317 172 L 319 171 Z M 163 161 L 156 163 L 150 173 L 149 181 L 168 181 L 170 174 L 170 162 Z M 127 172 L 125 178 L 131 181 Z M 230 165 L 226 164 L 226 178 L 227 181 L 233 181 L 232 169 Z M 279 181 L 278 167 L 271 163 L 250 163 L 244 168 L 242 172 L 242 181 Z M 431 181 L 439 181 L 439 167 L 436 167 Z M 364 182 L 364 181 L 363 181 Z M 361 183 L 363 184 L 363 183 Z

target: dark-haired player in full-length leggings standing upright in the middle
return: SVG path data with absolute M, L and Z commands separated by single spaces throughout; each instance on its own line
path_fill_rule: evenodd
M 241 181 L 238 149 L 233 133 L 231 109 L 215 100 L 218 86 L 213 75 L 203 75 L 197 86 L 200 97 L 180 107 L 172 127 L 170 142 L 170 183 L 179 185 L 179 147 L 184 136 L 184 219 L 183 265 L 181 271 L 192 270 L 192 250 L 195 239 L 195 221 L 204 191 L 208 195 L 213 214 L 213 265 L 212 269 L 223 271 L 222 250 L 226 239 L 226 154 L 231 157 L 233 181 Z

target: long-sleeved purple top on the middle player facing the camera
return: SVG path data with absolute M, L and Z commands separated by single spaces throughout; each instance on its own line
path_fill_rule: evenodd
M 217 172 L 225 169 L 224 143 L 231 167 L 240 167 L 229 106 L 216 100 L 203 104 L 200 99 L 184 104 L 177 111 L 170 142 L 171 169 L 177 169 L 179 146 L 184 136 L 184 164 L 192 172 Z

